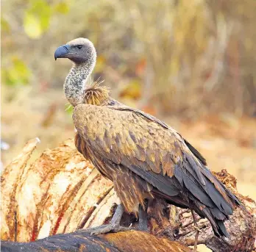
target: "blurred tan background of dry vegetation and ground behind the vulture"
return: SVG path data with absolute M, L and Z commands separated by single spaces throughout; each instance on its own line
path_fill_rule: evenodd
M 256 199 L 255 0 L 1 1 L 1 162 L 27 140 L 37 152 L 74 137 L 55 49 L 96 46 L 94 79 L 174 126 Z

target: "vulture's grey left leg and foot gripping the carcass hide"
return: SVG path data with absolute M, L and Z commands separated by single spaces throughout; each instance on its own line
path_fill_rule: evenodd
M 88 228 L 90 234 L 106 234 L 106 233 L 116 233 L 119 231 L 127 231 L 130 228 L 120 226 L 121 217 L 124 214 L 124 206 L 122 204 L 118 205 L 115 210 L 115 214 L 113 215 L 112 220 L 107 225 L 97 226 L 95 228 Z

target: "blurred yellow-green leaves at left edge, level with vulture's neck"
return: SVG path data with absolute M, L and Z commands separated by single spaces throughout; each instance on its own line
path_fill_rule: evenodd
M 31 71 L 23 60 L 13 57 L 10 68 L 1 70 L 2 80 L 5 84 L 13 86 L 18 84 L 29 84 Z

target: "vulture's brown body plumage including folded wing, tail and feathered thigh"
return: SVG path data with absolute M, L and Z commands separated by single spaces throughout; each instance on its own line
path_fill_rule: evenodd
M 121 104 L 79 104 L 73 119 L 78 151 L 113 181 L 127 212 L 137 213 L 144 199 L 161 197 L 194 209 L 210 220 L 217 235 L 227 236 L 223 220 L 238 200 L 174 129 Z

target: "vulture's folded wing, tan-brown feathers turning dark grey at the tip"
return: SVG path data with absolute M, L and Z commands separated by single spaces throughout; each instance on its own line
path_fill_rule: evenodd
M 235 196 L 165 123 L 127 107 L 88 104 L 75 107 L 73 118 L 79 135 L 105 159 L 129 168 L 168 197 L 186 192 L 225 216 L 232 214 Z

